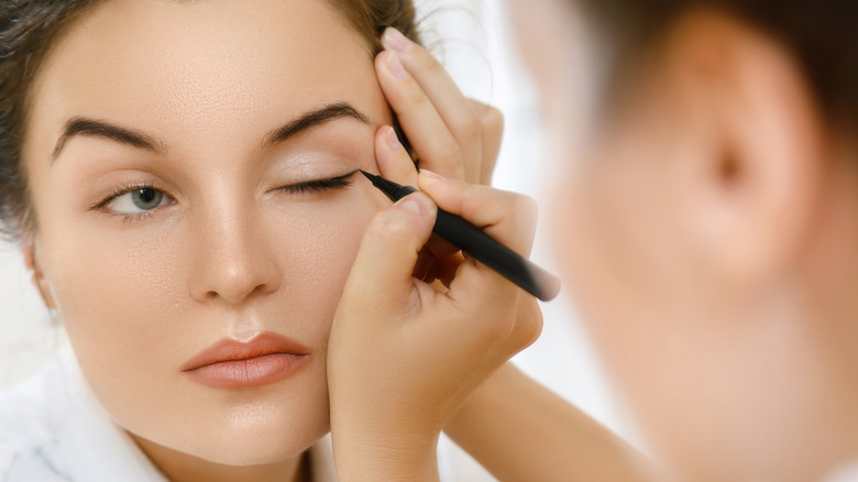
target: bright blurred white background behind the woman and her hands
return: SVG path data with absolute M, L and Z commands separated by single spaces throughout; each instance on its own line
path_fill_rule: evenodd
M 417 0 L 417 3 L 421 18 L 426 18 L 422 28 L 428 46 L 464 94 L 497 106 L 505 114 L 506 132 L 494 185 L 537 198 L 544 212 L 550 176 L 541 149 L 537 94 L 518 56 L 506 2 Z M 532 259 L 557 272 L 544 224 L 543 218 Z M 516 357 L 515 362 L 597 420 L 634 440 L 568 299 L 542 307 L 542 336 L 534 347 Z M 0 387 L 42 366 L 58 346 L 57 331 L 31 286 L 16 249 L 0 244 Z M 450 469 L 463 481 L 492 480 L 464 456 L 448 463 L 457 465 Z

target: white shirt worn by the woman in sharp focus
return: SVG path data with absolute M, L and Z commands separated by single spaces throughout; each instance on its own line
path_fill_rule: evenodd
M 315 481 L 336 482 L 329 437 Z M 90 391 L 70 349 L 0 393 L 0 482 L 167 482 Z

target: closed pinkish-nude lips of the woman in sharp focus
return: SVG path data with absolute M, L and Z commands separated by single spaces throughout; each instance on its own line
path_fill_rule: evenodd
M 242 342 L 224 338 L 182 366 L 191 381 L 215 388 L 261 386 L 287 379 L 302 369 L 310 352 L 282 335 L 263 332 Z

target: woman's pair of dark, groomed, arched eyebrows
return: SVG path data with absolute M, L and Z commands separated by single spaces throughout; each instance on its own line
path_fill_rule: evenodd
M 299 118 L 289 121 L 285 125 L 275 129 L 265 135 L 262 146 L 263 149 L 271 147 L 277 143 L 288 140 L 289 138 L 294 138 L 301 132 L 306 132 L 334 119 L 342 118 L 355 119 L 365 124 L 370 123 L 369 117 L 348 102 L 329 103 L 319 109 L 306 112 Z M 59 153 L 63 151 L 63 147 L 65 147 L 68 141 L 77 135 L 105 138 L 120 144 L 151 151 L 155 154 L 163 154 L 166 151 L 165 144 L 163 142 L 160 142 L 156 138 L 146 133 L 129 128 L 123 128 L 98 119 L 74 117 L 69 119 L 68 122 L 66 122 L 66 127 L 63 129 L 63 133 L 59 135 L 59 139 L 56 142 L 53 155 L 54 161 L 56 161 L 56 158 L 59 156 Z

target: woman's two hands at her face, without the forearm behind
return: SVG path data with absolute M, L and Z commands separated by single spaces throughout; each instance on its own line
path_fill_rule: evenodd
M 418 178 L 389 127 L 376 133 L 382 175 L 420 187 L 446 210 L 527 255 L 532 201 L 462 183 L 491 178 L 503 118 L 466 99 L 428 52 L 397 34 L 385 34 L 388 51 L 376 58 L 380 83 L 420 166 L 451 180 Z M 437 475 L 435 446 L 446 420 L 541 329 L 531 296 L 431 238 L 435 209 L 418 193 L 380 212 L 345 285 L 328 350 L 341 478 L 394 478 L 389 471 L 364 470 L 381 470 L 364 463 L 378 460 L 388 469 L 389 462 L 400 462 L 405 479 Z M 449 291 L 428 284 L 436 278 Z

